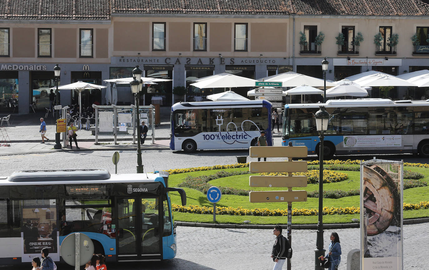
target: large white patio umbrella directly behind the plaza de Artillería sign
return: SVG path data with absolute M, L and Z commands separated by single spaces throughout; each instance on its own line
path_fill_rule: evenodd
M 270 78 L 271 77 L 271 78 Z M 324 81 L 319 78 L 314 78 L 304 74 L 299 74 L 296 72 L 286 72 L 278 75 L 272 75 L 264 78 L 264 81 L 281 81 L 282 87 L 298 87 L 302 84 L 306 84 L 311 87 L 323 87 Z M 333 84 L 329 81 L 326 81 L 326 88 L 334 87 L 336 84 Z

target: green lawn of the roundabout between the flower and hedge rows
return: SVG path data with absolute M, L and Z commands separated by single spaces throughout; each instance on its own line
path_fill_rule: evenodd
M 416 171 L 424 174 L 422 180 L 429 183 L 429 169 L 426 168 L 414 168 L 404 167 L 405 170 Z M 212 171 L 195 171 L 182 174 L 172 174 L 169 177 L 169 186 L 177 186 L 181 183 L 185 177 L 192 176 L 196 177 L 199 175 L 215 174 L 216 171 L 247 171 L 248 168 L 233 168 L 233 169 L 222 169 Z M 359 171 L 341 171 L 348 174 L 348 179 L 337 183 L 325 183 L 323 188 L 328 189 L 360 189 L 360 172 Z M 237 189 L 245 190 L 286 190 L 286 188 L 251 188 L 249 186 L 249 176 L 252 174 L 237 175 L 231 177 L 224 177 L 215 180 L 211 180 L 209 183 L 212 186 L 229 186 Z M 308 184 L 305 188 L 294 188 L 294 190 L 306 190 L 308 192 L 318 190 L 318 184 Z M 207 197 L 202 192 L 195 189 L 184 188 L 187 195 L 187 205 L 198 205 L 213 207 L 213 204 L 207 200 Z M 420 201 L 428 201 L 429 199 L 429 186 L 416 187 L 404 190 L 404 203 L 419 203 Z M 181 204 L 180 196 L 176 192 L 170 192 L 171 200 L 173 204 Z M 245 209 L 254 208 L 268 208 L 268 209 L 287 209 L 287 203 L 250 203 L 248 196 L 239 195 L 222 195 L 221 201 L 216 204 L 219 207 L 243 207 Z M 359 207 L 360 196 L 350 196 L 339 199 L 323 199 L 324 207 Z M 305 209 L 318 209 L 318 198 L 308 198 L 306 202 L 294 202 L 292 208 L 305 208 Z M 213 215 L 203 214 L 192 214 L 192 213 L 173 213 L 174 219 L 177 221 L 185 222 L 213 222 Z M 408 210 L 404 211 L 404 219 L 428 217 L 429 209 L 426 210 Z M 350 223 L 351 219 L 359 219 L 359 214 L 355 215 L 325 215 L 323 216 L 324 223 Z M 234 223 L 242 224 L 244 220 L 250 220 L 250 224 L 276 224 L 286 223 L 286 216 L 230 216 L 230 215 L 217 215 L 216 220 L 219 223 Z M 316 224 L 317 216 L 293 216 L 293 224 Z

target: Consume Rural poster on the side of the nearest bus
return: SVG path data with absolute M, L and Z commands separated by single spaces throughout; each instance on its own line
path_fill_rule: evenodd
M 49 253 L 57 253 L 56 212 L 55 206 L 24 204 L 21 234 L 24 254 L 40 255 L 43 248 L 49 248 Z

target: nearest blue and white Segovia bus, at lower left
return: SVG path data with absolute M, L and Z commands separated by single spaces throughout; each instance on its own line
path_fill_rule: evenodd
M 176 255 L 168 172 L 113 174 L 104 169 L 18 171 L 0 177 L 0 265 L 30 262 L 64 238 L 88 235 L 106 261 L 156 261 Z

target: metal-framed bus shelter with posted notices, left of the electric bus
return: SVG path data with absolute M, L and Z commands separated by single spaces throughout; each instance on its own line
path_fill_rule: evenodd
M 92 105 L 95 109 L 95 144 L 99 144 L 100 135 L 113 135 L 114 143 L 117 143 L 118 135 L 132 135 L 133 144 L 136 143 L 137 110 L 135 105 Z M 139 120 L 145 121 L 151 130 L 152 144 L 155 143 L 155 107 L 154 105 L 139 106 Z M 130 133 L 132 132 L 132 133 Z M 139 139 L 139 138 L 137 138 Z

